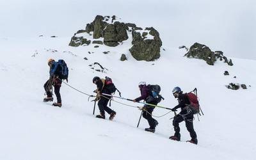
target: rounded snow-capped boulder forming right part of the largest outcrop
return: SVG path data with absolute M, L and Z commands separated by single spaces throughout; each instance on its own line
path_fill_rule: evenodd
M 146 35 L 152 37 L 148 38 Z M 142 33 L 136 30 L 132 31 L 132 44 L 129 51 L 138 61 L 154 61 L 160 57 L 162 41 L 159 33 L 154 28 L 146 28 Z

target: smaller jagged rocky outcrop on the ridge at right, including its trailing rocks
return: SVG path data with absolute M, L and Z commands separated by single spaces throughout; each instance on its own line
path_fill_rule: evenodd
M 228 65 L 233 65 L 232 60 L 227 60 L 222 51 L 213 52 L 206 45 L 198 43 L 193 44 L 184 56 L 205 60 L 208 65 L 214 65 L 216 60 L 224 60 Z

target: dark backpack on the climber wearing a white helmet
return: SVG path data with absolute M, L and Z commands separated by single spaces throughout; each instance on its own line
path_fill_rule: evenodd
M 159 95 L 159 93 L 161 92 L 161 87 L 158 84 L 148 84 L 147 87 L 150 90 L 150 95 L 147 98 L 147 102 L 156 101 L 157 103 L 159 103 L 162 99 L 164 100 L 164 98 Z

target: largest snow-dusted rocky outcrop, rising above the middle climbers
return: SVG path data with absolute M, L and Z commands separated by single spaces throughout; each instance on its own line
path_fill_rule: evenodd
M 80 29 L 72 36 L 69 43 L 72 47 L 80 45 L 100 44 L 109 47 L 122 45 L 122 42 L 132 37 L 129 51 L 138 60 L 154 61 L 160 57 L 162 41 L 159 32 L 154 28 L 140 28 L 133 23 L 118 21 L 115 15 L 97 15 L 93 22 L 86 24 L 85 29 Z M 129 34 L 128 34 L 129 33 Z

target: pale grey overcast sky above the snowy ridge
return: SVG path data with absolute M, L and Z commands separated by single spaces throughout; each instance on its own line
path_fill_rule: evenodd
M 71 37 L 98 14 L 153 26 L 164 46 L 200 42 L 230 57 L 256 60 L 253 0 L 0 0 L 0 38 Z

